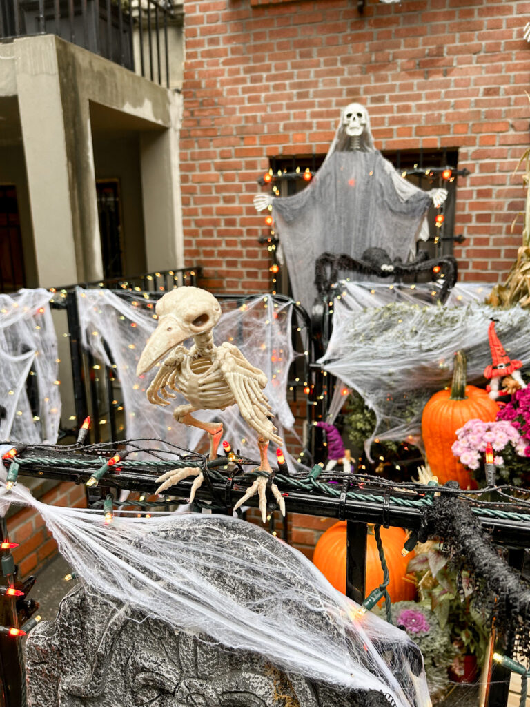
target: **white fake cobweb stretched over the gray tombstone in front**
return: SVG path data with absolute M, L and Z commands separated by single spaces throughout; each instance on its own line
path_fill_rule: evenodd
M 305 556 L 257 526 L 124 510 L 105 525 L 101 511 L 47 506 L 22 484 L 6 492 L 0 481 L 1 513 L 9 503 L 38 510 L 88 590 L 117 607 L 259 653 L 339 691 L 382 692 L 396 707 L 430 705 L 423 661 L 406 633 L 361 616 Z

